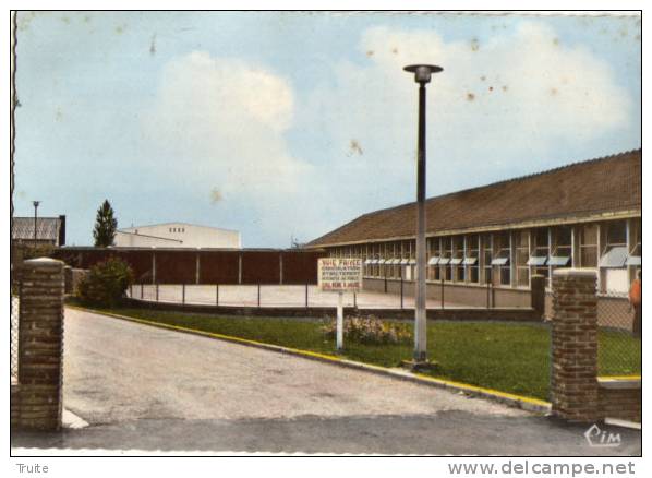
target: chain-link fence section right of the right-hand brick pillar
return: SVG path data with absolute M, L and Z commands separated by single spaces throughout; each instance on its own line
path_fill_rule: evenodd
M 641 311 L 623 292 L 597 296 L 599 373 L 640 375 Z

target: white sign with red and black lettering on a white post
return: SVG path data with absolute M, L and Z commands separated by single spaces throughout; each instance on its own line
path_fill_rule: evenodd
M 337 292 L 337 332 L 336 347 L 345 344 L 345 306 L 346 291 L 358 292 L 362 288 L 362 260 L 323 258 L 318 262 L 319 289 Z

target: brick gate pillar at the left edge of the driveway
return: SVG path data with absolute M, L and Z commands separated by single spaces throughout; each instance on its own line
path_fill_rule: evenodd
M 63 362 L 63 262 L 23 263 L 19 322 L 19 386 L 22 429 L 61 427 Z

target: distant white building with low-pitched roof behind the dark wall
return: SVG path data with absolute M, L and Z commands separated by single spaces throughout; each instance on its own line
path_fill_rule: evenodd
M 186 223 L 118 229 L 113 243 L 117 248 L 242 248 L 240 232 L 237 230 Z

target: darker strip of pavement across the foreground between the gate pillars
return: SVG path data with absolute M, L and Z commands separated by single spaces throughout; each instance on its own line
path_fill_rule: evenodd
M 12 449 L 214 451 L 300 454 L 638 456 L 641 432 L 600 426 L 620 445 L 592 447 L 585 426 L 545 417 L 500 417 L 463 411 L 411 416 L 302 416 L 293 419 L 143 419 L 60 433 L 13 432 Z M 86 449 L 83 453 L 81 449 Z M 38 451 L 24 451 L 38 454 Z M 21 456 L 21 451 L 12 455 Z M 44 451 L 47 454 L 47 451 Z

